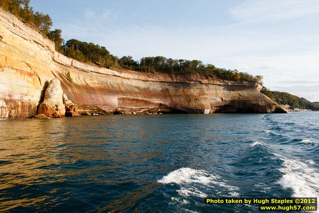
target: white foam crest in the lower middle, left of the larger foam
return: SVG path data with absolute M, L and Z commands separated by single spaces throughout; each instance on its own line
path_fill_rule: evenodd
M 218 178 L 207 171 L 196 170 L 191 168 L 179 168 L 175 171 L 168 173 L 163 176 L 158 182 L 168 184 L 168 183 L 202 183 L 209 184 L 214 179 Z

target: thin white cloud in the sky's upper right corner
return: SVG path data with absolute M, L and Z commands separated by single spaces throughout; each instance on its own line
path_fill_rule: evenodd
M 319 13 L 317 0 L 246 0 L 230 10 L 242 22 L 276 22 Z

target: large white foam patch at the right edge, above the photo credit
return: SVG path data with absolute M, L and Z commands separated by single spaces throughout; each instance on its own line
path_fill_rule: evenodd
M 298 159 L 282 156 L 280 159 L 284 167 L 279 169 L 283 176 L 277 181 L 278 184 L 284 189 L 292 189 L 293 197 L 319 197 L 319 173 L 316 169 Z

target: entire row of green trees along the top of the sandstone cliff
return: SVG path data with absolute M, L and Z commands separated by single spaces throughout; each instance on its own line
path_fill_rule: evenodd
M 51 31 L 52 21 L 48 15 L 34 12 L 29 7 L 30 0 L 0 0 L 0 6 L 20 17 L 25 22 L 33 25 L 43 35 L 47 36 L 55 44 L 55 49 L 67 57 L 80 62 L 94 63 L 99 66 L 117 69 L 129 69 L 147 73 L 168 74 L 202 74 L 223 80 L 248 81 L 262 84 L 262 76 L 252 76 L 237 70 L 226 70 L 217 68 L 211 64 L 203 64 L 198 60 L 167 59 L 162 56 L 144 57 L 139 61 L 130 56 L 118 58 L 111 55 L 105 47 L 93 43 L 81 42 L 75 39 L 64 43 L 61 38 L 62 31 L 55 29 Z

